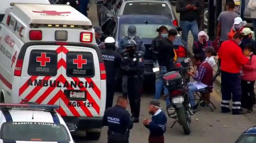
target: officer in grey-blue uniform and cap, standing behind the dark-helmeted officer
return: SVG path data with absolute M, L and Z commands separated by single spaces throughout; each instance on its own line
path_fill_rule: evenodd
M 138 51 L 142 56 L 145 53 L 145 46 L 144 43 L 142 41 L 142 38 L 139 36 L 136 36 L 136 26 L 135 25 L 130 25 L 128 27 L 128 31 L 127 34 L 128 36 L 125 36 L 121 39 L 118 47 L 118 52 L 123 54 L 126 52 L 125 46 L 128 40 L 134 40 L 137 44 L 136 44 L 136 51 Z

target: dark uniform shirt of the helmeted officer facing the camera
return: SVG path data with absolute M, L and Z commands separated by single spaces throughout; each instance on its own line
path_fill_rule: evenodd
M 129 67 L 129 70 L 125 70 L 126 67 Z M 124 69 L 124 75 L 134 76 L 141 75 L 144 72 L 144 60 L 143 56 L 139 52 L 135 52 L 132 57 L 129 56 L 129 53 L 124 53 L 121 61 L 121 69 Z

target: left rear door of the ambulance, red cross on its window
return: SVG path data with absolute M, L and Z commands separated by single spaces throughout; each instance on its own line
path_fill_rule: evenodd
M 35 45 L 25 49 L 24 59 L 18 59 L 15 67 L 22 68 L 19 102 L 25 99 L 26 102 L 59 105 L 63 84 L 61 68 L 66 66 L 62 63 L 61 48 L 57 45 Z

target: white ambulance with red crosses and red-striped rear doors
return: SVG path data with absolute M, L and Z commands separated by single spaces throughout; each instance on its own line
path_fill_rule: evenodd
M 0 24 L 0 101 L 57 104 L 98 139 L 106 75 L 91 21 L 68 5 L 12 5 Z

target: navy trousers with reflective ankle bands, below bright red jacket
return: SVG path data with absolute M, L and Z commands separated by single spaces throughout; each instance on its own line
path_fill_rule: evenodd
M 229 111 L 229 100 L 232 94 L 232 113 L 238 113 L 241 109 L 241 79 L 239 73 L 221 71 L 221 110 Z

